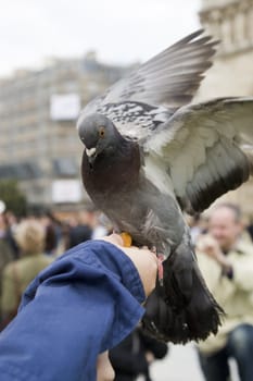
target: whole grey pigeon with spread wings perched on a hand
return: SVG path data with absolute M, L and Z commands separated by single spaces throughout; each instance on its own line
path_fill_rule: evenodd
M 84 186 L 118 232 L 164 256 L 142 325 L 173 343 L 216 333 L 184 212 L 201 212 L 253 173 L 253 98 L 191 102 L 217 41 L 198 30 L 91 100 L 77 121 Z

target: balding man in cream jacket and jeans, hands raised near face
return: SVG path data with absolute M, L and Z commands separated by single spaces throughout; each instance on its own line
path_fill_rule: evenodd
M 241 381 L 253 380 L 253 245 L 241 233 L 240 209 L 222 204 L 211 212 L 208 235 L 197 242 L 200 269 L 226 312 L 217 335 L 199 344 L 206 381 L 227 381 L 229 358 Z

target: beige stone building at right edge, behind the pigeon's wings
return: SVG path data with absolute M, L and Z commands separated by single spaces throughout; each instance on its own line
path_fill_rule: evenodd
M 220 45 L 195 100 L 253 96 L 253 0 L 202 0 L 200 21 Z M 253 216 L 252 197 L 250 181 L 225 199 Z

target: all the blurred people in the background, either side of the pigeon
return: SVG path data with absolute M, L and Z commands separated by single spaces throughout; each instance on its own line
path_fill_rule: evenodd
M 203 276 L 226 312 L 218 334 L 198 343 L 204 378 L 226 381 L 229 358 L 235 358 L 240 381 L 252 381 L 253 223 L 230 204 L 186 218 Z M 1 329 L 16 315 L 23 292 L 45 267 L 66 249 L 111 232 L 110 222 L 92 206 L 62 219 L 51 212 L 24 218 L 0 212 Z M 166 354 L 166 344 L 137 328 L 110 357 L 117 381 L 134 381 L 140 374 L 150 381 L 150 365 Z

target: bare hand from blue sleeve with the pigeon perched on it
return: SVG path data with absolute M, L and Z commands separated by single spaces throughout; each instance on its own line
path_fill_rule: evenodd
M 143 284 L 144 293 L 147 296 L 149 296 L 155 287 L 157 275 L 159 260 L 155 254 L 150 251 L 148 248 L 138 248 L 135 246 L 124 247 L 121 235 L 115 233 L 103 237 L 102 239 L 119 247 L 121 250 L 130 258 L 138 270 Z

